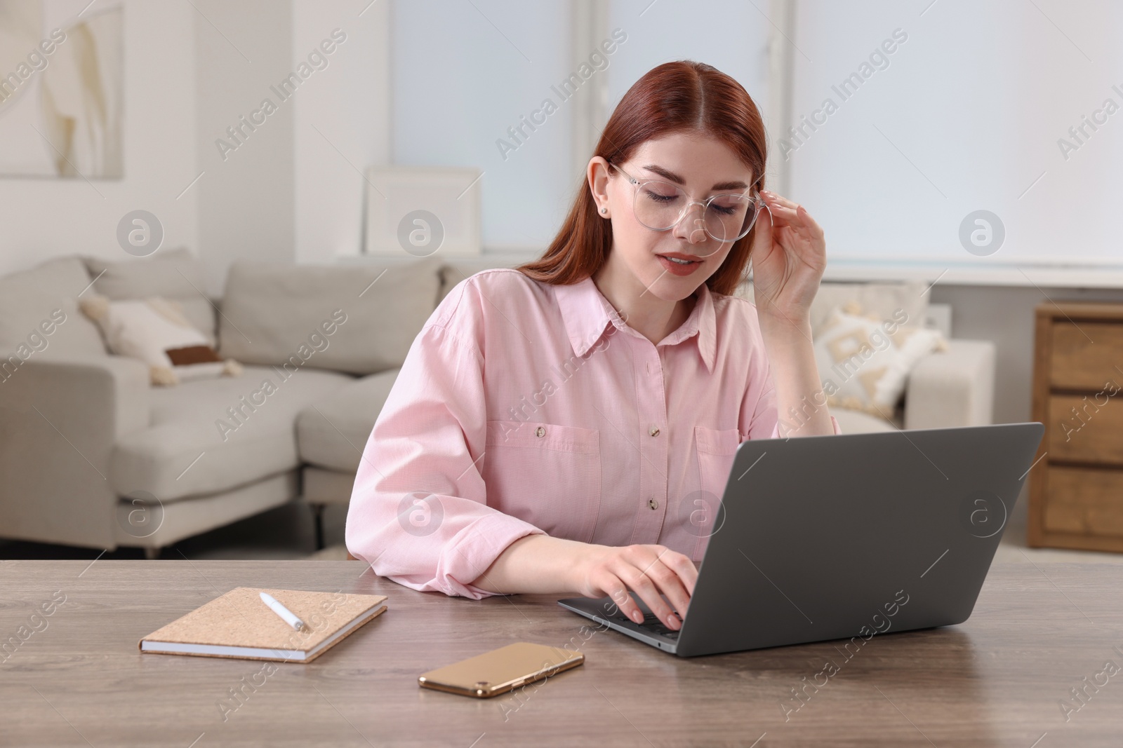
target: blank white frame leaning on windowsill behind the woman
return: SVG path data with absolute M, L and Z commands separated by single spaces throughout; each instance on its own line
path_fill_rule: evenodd
M 448 257 L 480 255 L 480 177 L 477 168 L 439 166 L 373 166 L 366 170 L 366 237 L 364 252 L 381 257 L 424 257 L 407 251 L 400 240 L 403 220 L 413 211 L 437 216 L 444 239 L 436 251 Z M 414 222 L 405 221 L 405 229 Z M 419 230 L 426 230 L 423 224 Z

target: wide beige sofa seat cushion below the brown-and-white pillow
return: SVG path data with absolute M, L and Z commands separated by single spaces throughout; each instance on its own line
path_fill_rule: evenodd
M 347 375 L 246 367 L 241 377 L 153 388 L 149 426 L 117 442 L 109 481 L 161 501 L 213 493 L 300 465 L 296 415 Z

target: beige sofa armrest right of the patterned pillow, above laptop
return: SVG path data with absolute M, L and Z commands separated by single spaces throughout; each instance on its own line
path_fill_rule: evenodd
M 905 428 L 983 426 L 994 421 L 995 345 L 950 340 L 921 359 L 905 387 Z

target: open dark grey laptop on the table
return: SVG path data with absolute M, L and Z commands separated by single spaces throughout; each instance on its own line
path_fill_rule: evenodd
M 610 598 L 558 604 L 681 657 L 961 624 L 1043 432 L 1020 423 L 742 442 L 699 528 L 709 539 L 678 631 L 634 594 L 643 624 Z

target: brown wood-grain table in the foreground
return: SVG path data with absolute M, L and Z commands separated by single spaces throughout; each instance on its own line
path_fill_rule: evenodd
M 0 641 L 30 634 L 0 654 L 0 745 L 1123 742 L 1123 671 L 1098 675 L 1106 684 L 1095 691 L 1081 680 L 1096 680 L 1107 661 L 1123 668 L 1116 565 L 996 565 L 967 622 L 878 635 L 850 661 L 831 643 L 682 659 L 583 628 L 551 597 L 446 598 L 364 569 L 346 561 L 2 562 Z M 137 652 L 141 636 L 239 585 L 386 594 L 390 609 L 313 663 L 279 664 L 268 676 L 259 662 Z M 49 617 L 31 618 L 63 597 Z M 519 640 L 579 643 L 586 662 L 492 700 L 417 685 L 423 671 Z M 828 659 L 838 672 L 816 676 Z M 825 684 L 807 686 L 810 699 L 785 718 L 783 704 L 796 705 L 792 689 L 812 681 Z M 246 682 L 238 708 L 223 710 Z M 1084 703 L 1070 700 L 1077 686 L 1088 694 Z

